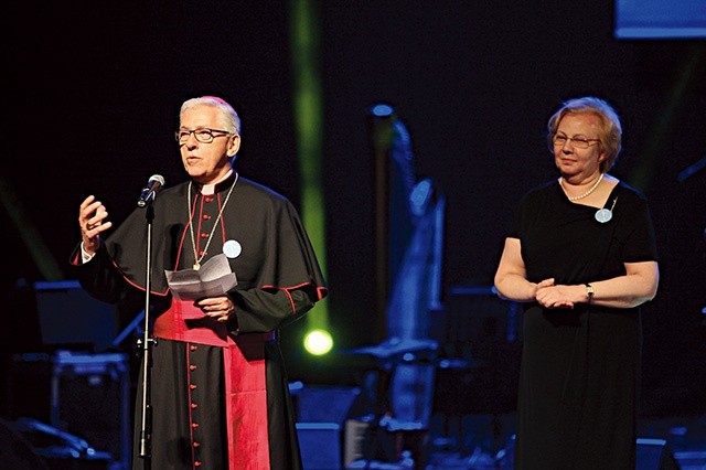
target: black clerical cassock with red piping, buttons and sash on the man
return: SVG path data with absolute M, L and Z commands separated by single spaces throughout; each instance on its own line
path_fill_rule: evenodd
M 206 252 L 202 265 L 216 254 L 229 254 L 238 282 L 228 292 L 236 303 L 233 321 L 217 324 L 200 313 L 199 319 L 186 322 L 188 331 L 180 332 L 191 338 L 193 332 L 213 331 L 225 346 L 165 334 L 152 349 L 149 442 L 154 469 L 301 468 L 295 413 L 275 333 L 311 309 L 327 295 L 327 288 L 291 203 L 246 179 L 236 183 L 236 178 L 234 173 L 220 183 L 213 195 L 201 194 L 196 184 L 168 188 L 152 204 L 150 290 L 156 324 L 169 318 L 175 305 L 164 270 L 193 267 L 194 252 L 200 257 Z M 104 301 L 143 305 L 146 234 L 146 209 L 138 209 L 90 261 L 79 264 L 75 252 L 72 263 L 82 286 Z M 168 333 L 170 321 L 165 322 Z M 266 337 L 271 340 L 253 341 Z M 228 362 L 234 350 L 239 368 L 227 366 L 235 364 Z M 244 382 L 245 370 L 261 371 L 256 374 L 256 384 Z M 137 392 L 135 469 L 145 463 L 137 453 L 141 378 L 142 371 Z M 261 412 L 254 413 L 248 396 L 256 395 Z

